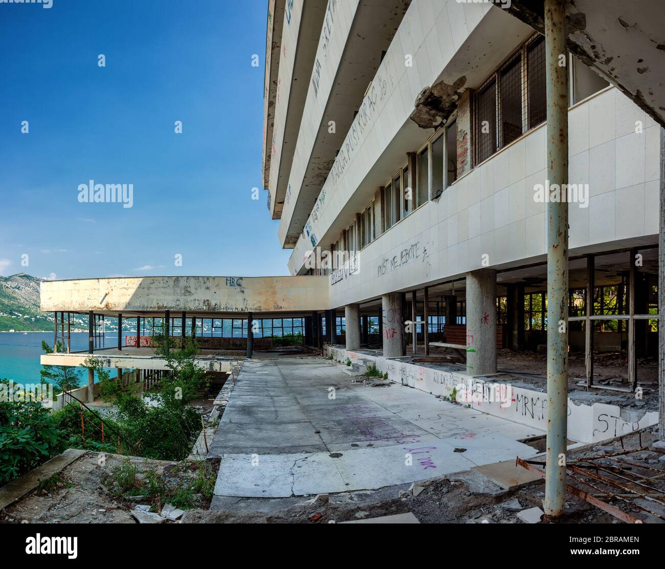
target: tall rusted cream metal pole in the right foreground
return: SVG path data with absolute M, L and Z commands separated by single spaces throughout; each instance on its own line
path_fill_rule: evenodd
M 565 6 L 545 0 L 547 61 L 547 469 L 545 514 L 563 514 L 568 404 L 568 68 Z M 563 63 L 563 65 L 562 65 Z M 557 196 L 557 186 L 559 196 Z

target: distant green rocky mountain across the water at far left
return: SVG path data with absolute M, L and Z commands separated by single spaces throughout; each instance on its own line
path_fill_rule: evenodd
M 0 331 L 53 330 L 53 313 L 39 311 L 39 284 L 42 280 L 25 273 L 0 276 Z M 76 328 L 83 327 L 84 321 L 84 317 L 78 317 Z

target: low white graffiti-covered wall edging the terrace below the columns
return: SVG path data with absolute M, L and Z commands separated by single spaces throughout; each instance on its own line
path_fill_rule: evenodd
M 332 346 L 326 349 L 340 362 L 346 361 L 347 357 L 352 363 L 357 363 L 360 358 L 372 360 L 382 373 L 388 372 L 388 379 L 394 383 L 409 385 L 442 397 L 450 396 L 453 389 L 456 389 L 458 393 L 462 392 L 458 401 L 464 405 L 468 403 L 473 409 L 488 415 L 536 427 L 541 431 L 547 430 L 547 393 L 542 391 L 492 383 L 464 373 L 432 369 Z M 656 423 L 658 411 L 622 411 L 618 405 L 587 404 L 568 399 L 568 438 L 572 441 L 595 443 L 628 435 Z

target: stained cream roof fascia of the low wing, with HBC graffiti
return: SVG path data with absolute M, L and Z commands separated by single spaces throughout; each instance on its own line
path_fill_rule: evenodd
M 45 281 L 42 311 L 312 311 L 329 305 L 328 279 L 143 277 Z

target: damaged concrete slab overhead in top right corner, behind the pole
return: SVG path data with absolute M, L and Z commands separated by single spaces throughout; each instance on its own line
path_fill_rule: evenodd
M 512 0 L 509 13 L 543 33 L 543 1 Z M 568 49 L 665 126 L 662 0 L 566 3 Z

